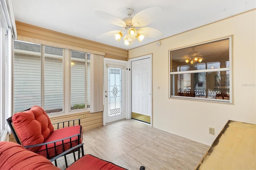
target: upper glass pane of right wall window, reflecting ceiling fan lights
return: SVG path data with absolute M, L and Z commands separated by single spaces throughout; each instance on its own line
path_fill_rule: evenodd
M 170 51 L 172 72 L 228 68 L 229 39 Z

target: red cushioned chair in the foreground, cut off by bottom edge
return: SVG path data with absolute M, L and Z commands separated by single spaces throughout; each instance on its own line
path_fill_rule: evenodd
M 80 147 L 79 144 L 75 147 Z M 71 150 L 70 149 L 70 150 Z M 52 160 L 46 159 L 44 156 L 26 150 L 23 146 L 14 142 L 0 142 L 0 169 L 2 170 L 60 170 L 54 166 L 51 161 L 56 160 L 69 150 L 56 156 Z M 80 159 L 71 164 L 66 170 L 126 170 L 111 162 L 101 160 L 90 154 L 82 156 Z M 145 169 L 145 168 L 144 168 Z

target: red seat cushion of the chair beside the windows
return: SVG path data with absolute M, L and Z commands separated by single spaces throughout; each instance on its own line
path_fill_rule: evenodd
M 44 142 L 51 142 L 51 141 L 54 141 L 54 140 L 58 140 L 58 139 L 61 139 L 61 138 L 66 138 L 68 136 L 72 136 L 72 135 L 80 134 L 80 133 L 81 133 L 81 137 L 80 137 L 80 142 L 79 143 L 82 143 L 83 128 L 82 128 L 81 125 L 72 126 L 72 127 L 65 127 L 65 128 L 60 128 L 60 129 L 54 130 Z M 72 142 L 71 142 L 71 146 L 70 146 L 70 139 L 64 140 L 64 151 L 72 148 L 73 146 L 78 145 L 78 136 L 72 137 L 71 141 Z M 62 148 L 62 141 L 56 142 L 57 154 L 55 154 L 53 143 L 48 144 L 47 148 L 48 148 L 48 154 L 49 154 L 50 158 L 64 152 L 63 148 Z M 42 155 L 42 156 L 47 157 L 45 149 L 46 149 L 46 147 L 45 147 L 45 145 L 43 145 L 37 150 L 37 153 Z M 40 151 L 40 150 L 43 150 L 43 151 Z

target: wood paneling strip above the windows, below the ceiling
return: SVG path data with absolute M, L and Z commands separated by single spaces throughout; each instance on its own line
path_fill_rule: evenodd
M 39 41 L 41 40 L 46 42 L 64 44 L 71 47 L 87 49 L 86 52 L 92 52 L 100 55 L 104 53 L 104 57 L 106 58 L 128 61 L 128 52 L 126 49 L 86 40 L 75 36 L 70 36 L 68 34 L 63 34 L 60 32 L 48 30 L 38 26 L 33 26 L 19 21 L 16 21 L 16 29 L 18 34 L 18 40 L 25 41 L 24 38 L 31 38 Z

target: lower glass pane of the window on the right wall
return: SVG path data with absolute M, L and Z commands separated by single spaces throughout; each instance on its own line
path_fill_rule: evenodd
M 171 75 L 174 96 L 229 100 L 229 71 Z

